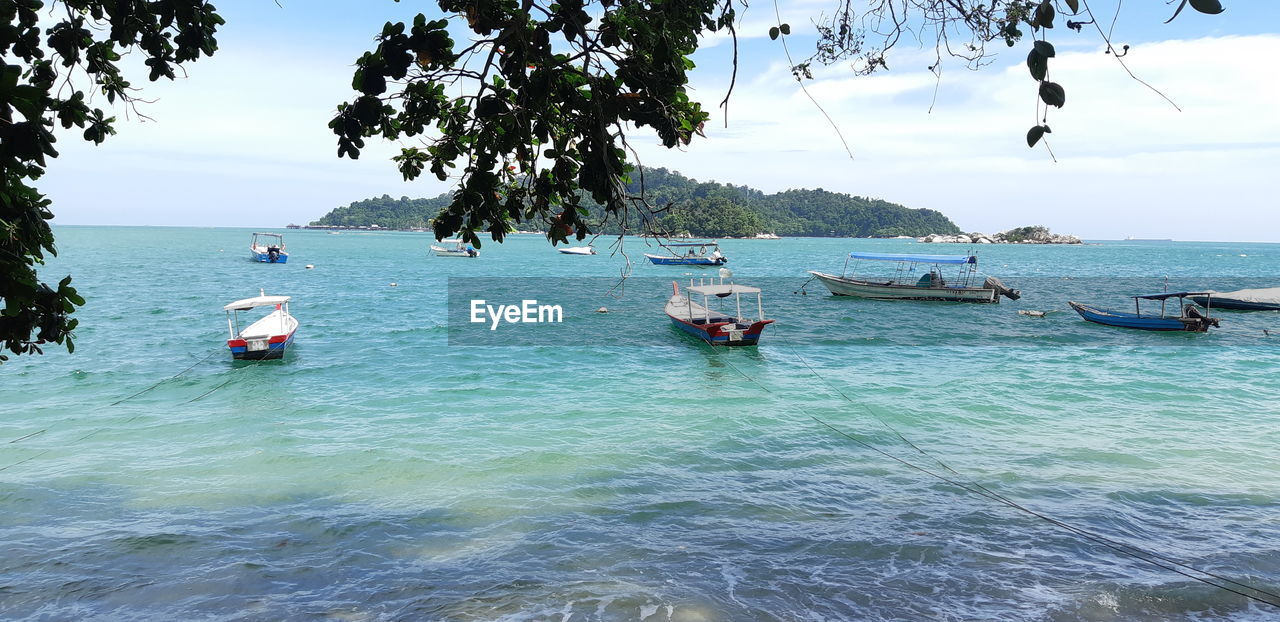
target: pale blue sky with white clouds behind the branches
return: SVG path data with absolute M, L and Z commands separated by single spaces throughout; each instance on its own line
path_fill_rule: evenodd
M 434 3 L 215 4 L 228 22 L 215 56 L 172 83 L 136 77 L 147 118 L 116 109 L 119 133 L 101 146 L 60 134 L 61 156 L 38 182 L 55 224 L 279 228 L 372 196 L 451 189 L 431 175 L 404 182 L 389 161 L 396 143 L 370 140 L 360 160 L 339 160 L 326 127 L 355 97 L 353 61 L 376 45 L 383 23 L 440 17 Z M 1116 3 L 1089 5 L 1110 17 Z M 1162 22 L 1174 6 L 1165 3 L 1121 5 L 1112 41 L 1130 45 L 1129 69 L 1176 109 L 1103 54 L 1096 31 L 1068 31 L 1060 18 L 1050 78 L 1064 86 L 1066 105 L 1047 120 L 1056 161 L 1025 143 L 1037 123 L 1029 42 L 1000 44 L 979 70 L 943 64 L 941 81 L 927 70 L 932 45 L 915 41 L 899 44 L 890 70 L 872 77 L 822 67 L 806 87 L 828 122 L 768 38 L 777 19 L 763 3 L 741 15 L 727 118 L 717 105 L 732 46 L 713 36 L 694 56 L 690 83 L 713 111 L 707 138 L 682 150 L 644 131 L 631 141 L 645 166 L 765 192 L 824 188 L 928 207 L 968 232 L 1042 224 L 1089 239 L 1280 242 L 1280 3 L 1224 5 L 1220 15 L 1188 8 L 1170 24 Z M 796 59 L 813 50 L 812 20 L 835 6 L 780 1 Z

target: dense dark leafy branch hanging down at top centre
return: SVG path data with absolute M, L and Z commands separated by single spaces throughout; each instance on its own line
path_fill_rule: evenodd
M 448 19 L 419 14 L 387 23 L 356 61 L 360 97 L 329 127 L 338 155 L 365 138 L 421 138 L 396 161 L 461 179 L 434 220 L 438 238 L 477 232 L 502 241 L 509 223 L 539 223 L 553 242 L 590 233 L 582 196 L 622 214 L 627 125 L 652 128 L 667 147 L 687 145 L 708 114 L 689 99 L 698 36 L 731 28 L 730 0 L 640 3 L 440 0 L 470 29 L 456 44 Z M 590 12 L 589 12 L 590 9 Z M 481 60 L 483 59 L 483 60 Z M 457 87 L 463 95 L 448 95 Z M 449 91 L 457 92 L 457 88 Z

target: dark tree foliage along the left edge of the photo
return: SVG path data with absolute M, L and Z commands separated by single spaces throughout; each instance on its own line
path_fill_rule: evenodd
M 202 0 L 0 0 L 0 352 L 41 352 L 46 342 L 74 349 L 69 315 L 84 299 L 70 276 L 56 287 L 36 266 L 56 255 L 50 201 L 32 183 L 58 157 L 55 128 L 101 143 L 114 116 L 91 108 L 134 101 L 119 67 L 142 56 L 147 78 L 173 79 L 183 63 L 211 55 L 223 19 Z M 5 360 L 0 355 L 0 361 Z

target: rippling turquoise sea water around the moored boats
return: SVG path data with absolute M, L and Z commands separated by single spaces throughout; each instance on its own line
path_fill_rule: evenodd
M 1280 284 L 1280 244 L 982 247 L 1024 298 L 964 306 L 794 293 L 851 250 L 951 247 L 728 241 L 778 323 L 713 352 L 662 315 L 678 267 L 637 264 L 611 294 L 621 257 L 532 235 L 471 261 L 429 256 L 425 234 L 291 232 L 283 266 L 248 262 L 248 235 L 58 229 L 45 274 L 88 305 L 74 355 L 0 367 L 0 618 L 1277 614 L 810 416 L 941 470 L 879 417 L 1030 508 L 1277 591 L 1280 314 L 1157 334 L 1065 301 L 1126 308 L 1166 275 Z M 451 283 L 535 294 L 566 323 L 467 346 L 483 337 Z M 294 297 L 297 344 L 233 363 L 221 305 L 259 288 Z

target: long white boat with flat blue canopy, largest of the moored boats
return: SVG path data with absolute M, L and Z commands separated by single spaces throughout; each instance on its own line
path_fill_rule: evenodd
M 897 269 L 891 276 L 858 276 L 849 273 L 849 260 L 895 261 Z M 959 265 L 955 280 L 942 275 L 942 266 Z M 916 273 L 916 267 L 920 271 Z M 928 270 L 925 273 L 924 270 Z M 945 301 L 945 302 L 1000 302 L 1004 296 L 1018 299 L 1016 289 L 1005 287 L 1000 279 L 987 276 L 982 287 L 974 285 L 978 274 L 978 257 L 973 255 L 900 255 L 887 252 L 851 252 L 845 259 L 845 270 L 835 274 L 809 270 L 827 289 L 836 296 L 856 296 L 859 298 L 896 301 Z M 919 276 L 916 276 L 919 274 Z

